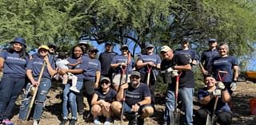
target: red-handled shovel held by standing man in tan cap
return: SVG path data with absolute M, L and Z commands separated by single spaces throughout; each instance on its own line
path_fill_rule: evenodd
M 182 72 L 176 76 L 176 88 L 175 88 L 175 102 L 174 102 L 174 112 L 170 114 L 170 124 L 171 125 L 179 125 L 181 112 L 178 110 L 178 85 L 179 85 L 179 77 L 182 75 Z

